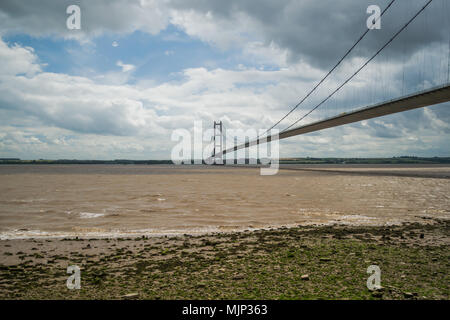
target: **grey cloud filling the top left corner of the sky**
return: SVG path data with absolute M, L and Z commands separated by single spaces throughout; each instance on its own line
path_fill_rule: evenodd
M 66 8 L 76 4 L 81 9 L 81 29 L 68 30 Z M 165 29 L 168 11 L 164 1 L 153 0 L 2 0 L 0 30 L 34 36 L 56 35 L 86 39 L 105 32 L 118 34 L 141 30 L 156 34 Z

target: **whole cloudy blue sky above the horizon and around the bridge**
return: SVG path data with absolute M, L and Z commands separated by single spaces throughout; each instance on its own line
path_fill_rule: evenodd
M 367 29 L 388 0 L 0 2 L 0 158 L 170 159 L 172 133 L 268 129 Z M 396 0 L 278 129 L 356 71 L 424 4 Z M 70 5 L 80 29 L 68 29 Z M 433 2 L 299 125 L 443 85 L 450 3 Z M 450 104 L 280 142 L 281 157 L 450 156 Z M 209 137 L 206 137 L 208 140 Z

